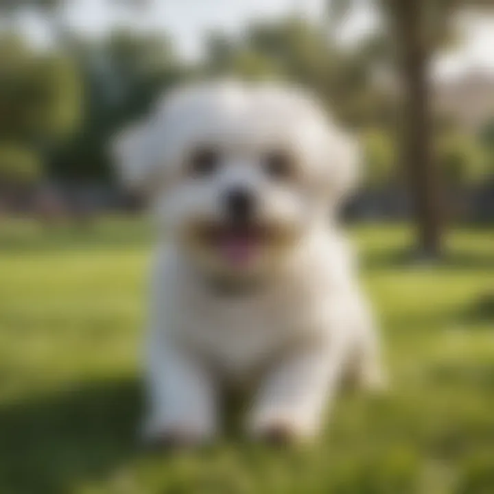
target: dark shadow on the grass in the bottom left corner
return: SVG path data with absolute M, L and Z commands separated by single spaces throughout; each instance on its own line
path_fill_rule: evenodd
M 67 493 L 137 453 L 137 381 L 95 381 L 0 407 L 0 492 Z

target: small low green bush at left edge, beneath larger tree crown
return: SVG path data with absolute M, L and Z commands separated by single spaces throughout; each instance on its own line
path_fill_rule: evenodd
M 14 143 L 0 143 L 0 183 L 32 183 L 41 174 L 36 152 Z

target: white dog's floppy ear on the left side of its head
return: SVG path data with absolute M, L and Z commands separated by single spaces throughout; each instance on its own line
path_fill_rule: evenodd
M 111 148 L 121 183 L 132 192 L 148 193 L 156 169 L 150 152 L 150 125 L 147 121 L 119 132 Z

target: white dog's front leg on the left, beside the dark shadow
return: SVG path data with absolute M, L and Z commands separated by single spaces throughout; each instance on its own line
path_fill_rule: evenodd
M 151 445 L 203 443 L 217 427 L 213 379 L 197 359 L 151 335 L 147 384 L 150 410 L 144 438 Z

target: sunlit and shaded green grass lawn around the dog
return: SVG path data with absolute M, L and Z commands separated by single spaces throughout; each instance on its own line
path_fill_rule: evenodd
M 353 234 L 389 395 L 343 393 L 312 447 L 232 434 L 206 451 L 146 456 L 145 226 L 1 224 L 0 493 L 493 493 L 493 229 L 451 233 L 436 268 L 401 262 L 408 228 Z

